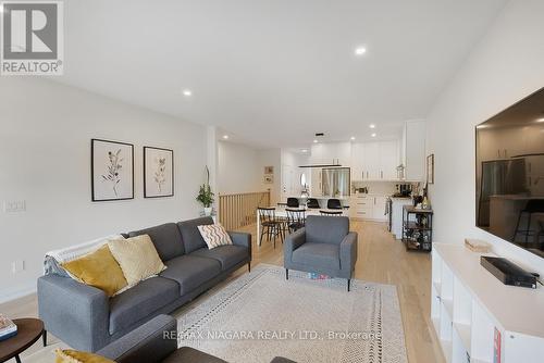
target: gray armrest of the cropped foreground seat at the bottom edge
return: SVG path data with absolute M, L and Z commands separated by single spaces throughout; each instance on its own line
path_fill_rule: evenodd
M 159 315 L 100 349 L 97 354 L 118 363 L 159 363 L 176 349 L 176 320 Z

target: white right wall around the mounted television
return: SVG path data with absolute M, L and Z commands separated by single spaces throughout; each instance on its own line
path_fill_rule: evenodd
M 474 225 L 474 126 L 544 86 L 544 1 L 510 1 L 428 117 L 435 153 L 435 240 L 492 241 L 497 253 L 544 274 L 544 260 Z

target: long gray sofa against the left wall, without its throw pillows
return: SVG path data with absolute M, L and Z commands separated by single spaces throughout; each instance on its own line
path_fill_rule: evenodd
M 113 297 L 55 273 L 38 278 L 38 309 L 46 330 L 74 349 L 95 352 L 154 316 L 174 311 L 251 263 L 251 235 L 228 233 L 233 246 L 209 250 L 197 226 L 211 217 L 166 223 L 125 236 L 149 235 L 166 265 Z

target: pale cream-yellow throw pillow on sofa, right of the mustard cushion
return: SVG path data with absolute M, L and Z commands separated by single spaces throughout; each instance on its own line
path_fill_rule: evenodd
M 166 268 L 148 235 L 111 240 L 108 246 L 118 260 L 128 286 L 135 286 Z

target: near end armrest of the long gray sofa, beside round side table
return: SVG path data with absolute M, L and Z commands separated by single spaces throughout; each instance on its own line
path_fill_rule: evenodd
M 46 330 L 74 349 L 92 352 L 108 343 L 110 305 L 100 289 L 70 277 L 41 276 L 38 311 Z

